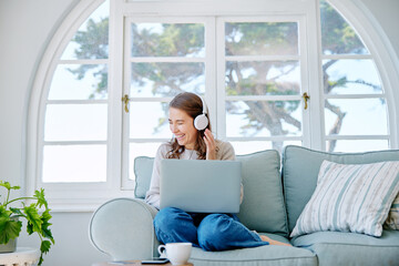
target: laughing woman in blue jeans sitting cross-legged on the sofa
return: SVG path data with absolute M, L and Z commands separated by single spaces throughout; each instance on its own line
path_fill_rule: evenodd
M 160 208 L 160 163 L 162 158 L 180 160 L 235 160 L 231 143 L 215 140 L 211 124 L 197 130 L 194 120 L 207 115 L 202 99 L 184 92 L 170 103 L 170 129 L 174 135 L 170 143 L 162 144 L 155 156 L 151 186 L 145 201 Z M 243 194 L 243 193 L 242 193 Z M 234 214 L 186 213 L 167 207 L 154 218 L 155 234 L 162 243 L 190 242 L 204 250 L 226 250 L 263 245 L 287 245 L 249 231 Z

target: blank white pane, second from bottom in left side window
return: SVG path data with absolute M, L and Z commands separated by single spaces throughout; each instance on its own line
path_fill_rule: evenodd
M 108 104 L 48 104 L 45 141 L 105 141 Z

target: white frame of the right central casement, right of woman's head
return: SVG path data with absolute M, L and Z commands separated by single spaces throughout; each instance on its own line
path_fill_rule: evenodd
M 225 55 L 225 38 L 224 34 L 222 37 L 222 32 L 224 33 L 224 25 L 226 22 L 296 22 L 298 25 L 298 54 L 296 55 Z M 307 69 L 308 65 L 308 40 L 307 40 L 307 21 L 306 16 L 304 14 L 267 14 L 267 16 L 252 16 L 248 17 L 219 17 L 217 18 L 217 30 L 219 34 L 217 34 L 217 106 L 219 112 L 217 112 L 217 129 L 218 136 L 225 139 L 227 141 L 248 141 L 248 137 L 234 137 L 228 136 L 226 133 L 226 112 L 225 103 L 226 101 L 299 101 L 301 110 L 301 135 L 299 136 L 254 136 L 252 141 L 300 141 L 304 146 L 310 145 L 310 112 L 309 110 L 304 110 L 304 102 L 301 101 L 303 93 L 311 93 L 314 90 L 311 84 L 309 83 L 309 72 Z M 260 59 L 256 59 L 260 58 Z M 228 61 L 257 61 L 257 62 L 268 62 L 268 61 L 284 61 L 284 60 L 293 60 L 298 61 L 299 70 L 300 70 L 300 90 L 298 95 L 249 95 L 249 96 L 227 96 L 225 93 L 225 75 L 222 73 L 226 72 L 226 62 Z M 309 108 L 310 109 L 310 108 Z

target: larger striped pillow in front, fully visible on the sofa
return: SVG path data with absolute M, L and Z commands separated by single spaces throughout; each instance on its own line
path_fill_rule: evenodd
M 337 164 L 324 161 L 316 190 L 291 237 L 319 231 L 381 236 L 399 192 L 399 161 Z

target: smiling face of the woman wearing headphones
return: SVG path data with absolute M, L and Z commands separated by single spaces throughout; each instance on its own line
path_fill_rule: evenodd
M 194 127 L 194 119 L 180 109 L 170 108 L 170 129 L 177 143 L 188 150 L 194 150 L 198 131 Z

